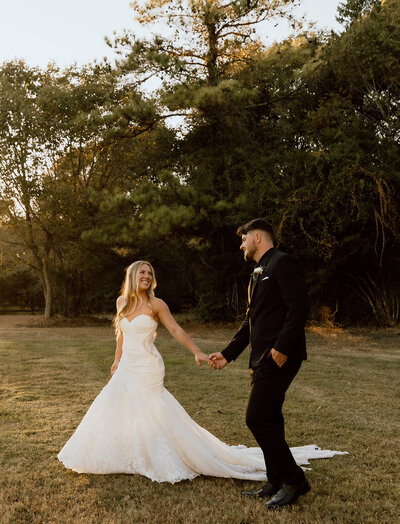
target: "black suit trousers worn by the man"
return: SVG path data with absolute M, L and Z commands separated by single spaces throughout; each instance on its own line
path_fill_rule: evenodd
M 252 389 L 246 424 L 263 451 L 267 477 L 274 486 L 299 484 L 305 478 L 285 440 L 282 405 L 285 393 L 301 366 L 289 357 L 280 368 L 272 357 L 252 371 Z

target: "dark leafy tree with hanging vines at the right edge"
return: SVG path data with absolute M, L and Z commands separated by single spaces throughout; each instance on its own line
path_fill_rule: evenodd
M 399 15 L 395 2 L 371 11 L 305 71 L 308 181 L 293 209 L 314 246 L 315 296 L 342 318 L 372 313 L 379 325 L 399 319 Z

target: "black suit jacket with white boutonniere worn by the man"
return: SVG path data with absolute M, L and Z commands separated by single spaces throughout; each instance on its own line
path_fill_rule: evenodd
M 273 247 L 259 260 L 262 273 L 250 282 L 250 302 L 239 331 L 222 351 L 228 362 L 250 344 L 255 369 L 271 348 L 305 360 L 308 300 L 303 272 L 294 258 Z

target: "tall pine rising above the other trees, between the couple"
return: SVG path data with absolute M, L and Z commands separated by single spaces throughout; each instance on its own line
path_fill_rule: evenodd
M 139 40 L 125 33 L 113 44 L 121 55 L 122 78 L 134 75 L 140 84 L 157 76 L 161 87 L 155 96 L 165 117 L 185 117 L 175 158 L 130 202 L 142 238 L 179 235 L 186 259 L 200 261 L 193 288 L 204 315 L 226 318 L 239 311 L 238 283 L 229 277 L 239 257 L 229 262 L 228 254 L 236 247 L 236 211 L 243 201 L 236 165 L 246 164 L 244 115 L 257 91 L 239 72 L 263 47 L 257 24 L 285 16 L 297 27 L 295 5 L 292 0 L 133 3 L 142 24 L 164 20 L 170 36 Z M 227 265 L 223 278 L 216 269 L 222 263 Z

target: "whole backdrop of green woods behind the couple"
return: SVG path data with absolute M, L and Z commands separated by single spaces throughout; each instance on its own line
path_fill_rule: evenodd
M 149 0 L 138 19 L 167 36 L 117 37 L 115 64 L 1 66 L 0 302 L 112 310 L 146 257 L 173 309 L 236 318 L 235 229 L 265 216 L 313 318 L 398 322 L 400 2 L 342 3 L 341 34 L 295 4 Z M 296 36 L 265 47 L 274 17 Z

